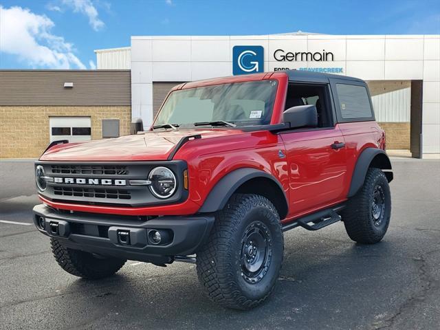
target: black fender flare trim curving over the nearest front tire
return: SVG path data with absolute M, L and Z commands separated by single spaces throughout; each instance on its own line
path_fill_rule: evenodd
M 287 197 L 285 195 L 285 191 L 283 186 L 281 186 L 280 181 L 276 179 L 274 176 L 264 172 L 263 170 L 257 170 L 256 168 L 239 168 L 236 170 L 232 170 L 232 172 L 228 173 L 224 177 L 222 177 L 217 184 L 215 184 L 214 188 L 208 194 L 203 205 L 199 209 L 199 212 L 216 212 L 225 207 L 228 200 L 236 192 L 236 190 L 243 185 L 246 181 L 249 181 L 254 178 L 265 178 L 274 181 L 274 183 L 280 188 L 281 192 L 283 192 L 285 199 L 285 210 L 281 212 L 280 217 L 283 219 L 287 214 Z M 284 209 L 284 208 L 283 208 Z M 280 212 L 280 210 L 278 210 Z M 284 214 L 285 213 L 285 214 Z

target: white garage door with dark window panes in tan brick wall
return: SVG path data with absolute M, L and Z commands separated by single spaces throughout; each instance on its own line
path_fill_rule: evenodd
M 80 142 L 91 140 L 90 117 L 50 117 L 50 142 L 69 140 Z

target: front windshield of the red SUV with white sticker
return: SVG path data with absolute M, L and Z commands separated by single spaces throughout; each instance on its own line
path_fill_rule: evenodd
M 154 126 L 222 121 L 236 126 L 270 124 L 276 86 L 276 80 L 259 80 L 173 91 Z

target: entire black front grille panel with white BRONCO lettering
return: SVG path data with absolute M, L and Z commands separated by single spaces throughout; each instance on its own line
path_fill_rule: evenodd
M 47 188 L 43 197 L 57 202 L 107 205 L 120 207 L 153 206 L 177 203 L 188 197 L 188 190 L 180 189 L 186 163 L 181 160 L 151 162 L 36 162 L 43 166 Z M 155 197 L 148 186 L 131 185 L 133 180 L 146 180 L 156 166 L 167 166 L 177 177 L 175 194 L 166 199 Z M 66 181 L 69 179 L 68 181 Z

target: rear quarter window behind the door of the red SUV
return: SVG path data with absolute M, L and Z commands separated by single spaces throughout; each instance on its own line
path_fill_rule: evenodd
M 336 84 L 343 119 L 372 118 L 369 95 L 364 86 Z

